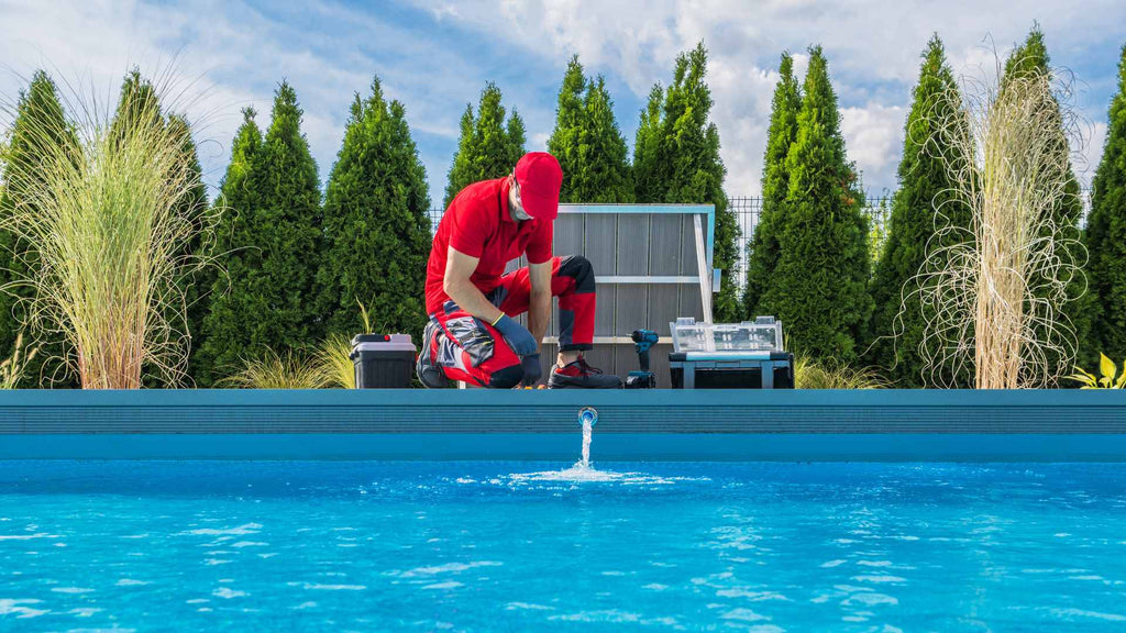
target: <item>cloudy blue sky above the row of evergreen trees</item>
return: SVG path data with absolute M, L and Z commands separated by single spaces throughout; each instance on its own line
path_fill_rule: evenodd
M 869 195 L 896 187 L 903 125 L 920 53 L 937 33 L 956 75 L 989 77 L 1039 24 L 1053 65 L 1074 77 L 1080 115 L 1076 175 L 1090 181 L 1126 44 L 1123 0 L 382 0 L 268 2 L 186 0 L 43 2 L 0 0 L 0 104 L 47 70 L 64 92 L 106 107 L 133 66 L 166 83 L 173 109 L 194 124 L 204 179 L 215 194 L 242 108 L 263 130 L 287 80 L 303 131 L 327 180 L 354 95 L 378 77 L 406 108 L 439 205 L 457 148 L 458 119 L 495 82 L 545 149 L 568 60 L 602 74 L 628 145 L 654 83 L 676 56 L 704 42 L 729 196 L 760 191 L 770 98 L 784 51 L 804 75 L 810 45 L 823 46 L 840 99 L 849 158 Z M 2 118 L 0 125 L 9 125 Z

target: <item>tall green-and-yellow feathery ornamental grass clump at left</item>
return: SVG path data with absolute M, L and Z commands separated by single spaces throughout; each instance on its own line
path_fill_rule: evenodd
M 63 105 L 74 118 L 28 130 L 42 151 L 26 169 L 8 170 L 16 204 L 0 225 L 35 253 L 9 285 L 34 291 L 28 323 L 66 341 L 73 351 L 63 360 L 83 389 L 137 389 L 142 372 L 169 385 L 184 377 L 178 283 L 204 259 L 180 246 L 209 234 L 213 215 L 178 211 L 194 179 L 184 130 L 161 115 L 163 88 L 176 87 L 161 86 L 145 98 L 123 92 L 116 113 L 92 90 L 71 89 Z

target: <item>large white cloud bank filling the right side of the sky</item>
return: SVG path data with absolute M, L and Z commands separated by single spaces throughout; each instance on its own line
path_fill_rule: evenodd
M 878 193 L 895 187 L 903 117 L 919 55 L 932 33 L 944 38 L 957 74 L 981 77 L 995 70 L 997 57 L 1003 59 L 1038 20 L 1054 63 L 1097 65 L 1112 75 L 1114 53 L 1099 64 L 1083 56 L 1092 42 L 1110 42 L 1116 52 L 1126 21 L 1120 0 L 953 0 L 941 6 L 926 0 L 464 0 L 459 7 L 466 28 L 507 38 L 529 54 L 562 60 L 578 53 L 588 68 L 619 74 L 638 97 L 654 82 L 669 81 L 677 53 L 704 41 L 726 188 L 733 194 L 759 189 L 768 114 L 762 106 L 769 105 L 774 84 L 756 78 L 776 68 L 784 50 L 798 53 L 795 65 L 804 75 L 807 56 L 801 53 L 823 45 L 850 158 L 865 172 L 868 189 Z M 1103 121 L 1105 108 L 1097 102 L 1081 114 Z

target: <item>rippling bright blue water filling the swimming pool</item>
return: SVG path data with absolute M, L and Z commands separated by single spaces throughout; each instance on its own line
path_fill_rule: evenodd
M 596 465 L 0 462 L 0 631 L 1126 630 L 1121 465 Z

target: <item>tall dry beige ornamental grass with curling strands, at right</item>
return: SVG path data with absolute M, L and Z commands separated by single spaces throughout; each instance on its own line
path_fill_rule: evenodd
M 928 258 L 906 293 L 924 307 L 924 371 L 967 372 L 977 389 L 1053 386 L 1067 366 L 1055 359 L 1075 355 L 1065 306 L 1083 275 L 1075 226 L 1054 213 L 1075 195 L 1064 135 L 1078 128 L 1072 87 L 1034 71 L 963 91 L 964 101 L 948 92 L 956 107 L 942 109 L 926 144 L 953 186 L 935 205 Z M 968 229 L 942 221 L 956 206 L 969 211 Z

